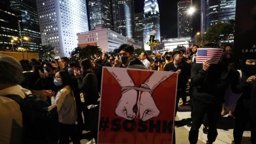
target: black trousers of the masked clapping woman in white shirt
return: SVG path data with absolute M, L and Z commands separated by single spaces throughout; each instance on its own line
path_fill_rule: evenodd
M 76 135 L 75 124 L 59 123 L 59 144 L 69 144 L 69 137 L 73 144 L 80 144 L 80 140 Z

